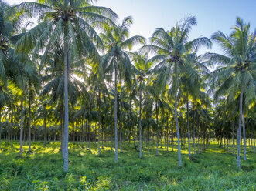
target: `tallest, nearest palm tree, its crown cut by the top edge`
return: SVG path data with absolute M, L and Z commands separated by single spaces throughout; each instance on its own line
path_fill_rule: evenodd
M 17 45 L 17 51 L 33 51 L 33 57 L 45 48 L 60 42 L 64 53 L 64 169 L 68 170 L 68 78 L 69 65 L 76 62 L 84 52 L 93 57 L 96 47 L 103 49 L 101 39 L 93 28 L 103 23 L 111 25 L 117 15 L 109 8 L 91 5 L 93 1 L 37 0 L 24 2 L 16 7 L 26 10 L 32 16 L 39 16 L 39 24 L 26 32 Z

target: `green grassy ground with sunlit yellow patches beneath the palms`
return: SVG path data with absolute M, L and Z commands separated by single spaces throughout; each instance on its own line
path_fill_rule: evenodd
M 109 147 L 97 146 L 87 152 L 70 143 L 69 173 L 63 172 L 60 142 L 32 143 L 32 154 L 19 158 L 19 142 L 11 149 L 2 142 L 0 151 L 0 190 L 256 190 L 256 155 L 248 152 L 241 157 L 241 170 L 236 157 L 217 145 L 189 160 L 183 150 L 183 167 L 178 167 L 178 155 L 159 149 L 145 148 L 142 159 L 132 148 L 126 148 L 114 163 Z

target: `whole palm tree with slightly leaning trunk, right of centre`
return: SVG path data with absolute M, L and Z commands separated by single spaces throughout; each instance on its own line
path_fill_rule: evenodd
M 210 39 L 206 37 L 188 41 L 189 32 L 192 26 L 196 24 L 196 18 L 188 16 L 182 23 L 178 23 L 170 31 L 166 31 L 163 28 L 156 28 L 151 38 L 151 45 L 142 47 L 142 51 L 157 54 L 151 59 L 155 63 L 155 68 L 152 69 L 152 72 L 158 76 L 157 83 L 159 86 L 164 89 L 168 85 L 171 90 L 170 92 L 174 95 L 179 166 L 182 166 L 177 112 L 177 96 L 181 85 L 180 77 L 185 74 L 189 77 L 197 75 L 190 65 L 191 59 L 194 57 L 194 54 L 190 52 L 199 49 L 201 45 L 211 47 Z

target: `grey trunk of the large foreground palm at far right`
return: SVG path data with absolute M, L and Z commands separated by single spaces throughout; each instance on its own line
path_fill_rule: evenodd
M 242 117 L 243 117 L 243 81 L 241 81 L 241 92 L 240 92 L 240 101 L 239 101 L 239 130 L 237 135 L 237 166 L 240 169 L 240 139 L 241 139 L 241 126 L 242 126 Z

